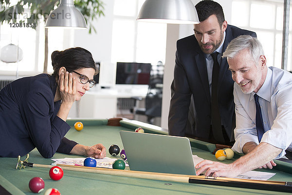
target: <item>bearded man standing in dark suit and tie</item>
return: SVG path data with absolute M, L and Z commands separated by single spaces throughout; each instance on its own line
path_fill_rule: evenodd
M 177 41 L 169 135 L 232 145 L 234 81 L 227 60 L 221 59 L 221 55 L 232 39 L 240 35 L 256 37 L 256 33 L 227 25 L 223 9 L 215 1 L 202 0 L 196 9 L 201 23 L 194 25 L 195 35 Z M 186 132 L 188 117 L 193 124 L 191 131 Z

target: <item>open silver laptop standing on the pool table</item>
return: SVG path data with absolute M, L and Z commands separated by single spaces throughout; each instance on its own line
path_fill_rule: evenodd
M 186 137 L 120 131 L 132 171 L 196 175 Z

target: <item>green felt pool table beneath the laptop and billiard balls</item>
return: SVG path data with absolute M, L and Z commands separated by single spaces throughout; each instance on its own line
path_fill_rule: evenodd
M 148 125 L 139 121 L 121 120 L 121 126 L 109 126 L 108 120 L 97 119 L 80 119 L 83 122 L 84 128 L 78 132 L 74 129 L 74 119 L 69 119 L 67 122 L 73 128 L 67 133 L 66 137 L 77 141 L 84 145 L 94 145 L 96 143 L 103 143 L 106 148 L 113 143 L 123 148 L 119 131 L 134 131 L 137 127 L 142 127 L 145 133 L 164 134 L 167 132 L 161 128 L 153 125 Z M 216 148 L 214 144 L 191 139 L 192 152 L 204 159 L 216 160 L 212 154 Z M 29 162 L 37 164 L 50 165 L 53 160 L 46 159 L 40 156 L 35 149 L 29 153 Z M 107 151 L 107 156 L 112 158 L 120 158 L 120 156 L 110 156 Z M 240 155 L 236 154 L 235 158 Z M 76 155 L 64 155 L 56 153 L 53 158 L 65 157 L 84 157 Z M 21 157 L 23 160 L 25 156 Z M 231 163 L 233 160 L 225 160 L 225 163 Z M 275 173 L 269 180 L 275 181 L 289 181 L 292 182 L 292 164 L 282 161 L 277 161 L 277 166 L 272 170 L 262 169 L 256 171 L 264 171 Z M 59 181 L 53 181 L 49 177 L 49 169 L 38 167 L 26 167 L 25 169 L 16 169 L 17 158 L 0 158 L 0 186 L 2 191 L 0 194 L 12 195 L 31 195 L 28 183 L 29 180 L 35 176 L 42 177 L 45 181 L 45 190 L 48 188 L 58 189 L 62 195 L 182 195 L 182 194 L 203 194 L 203 195 L 246 195 L 246 194 L 287 194 L 281 192 L 272 192 L 266 190 L 252 190 L 236 187 L 223 187 L 215 185 L 204 184 L 188 184 L 179 182 L 165 182 L 159 180 L 139 179 L 124 176 L 110 176 L 100 175 L 94 173 L 83 173 L 64 170 L 64 176 Z M 128 169 L 128 167 L 126 168 Z M 44 190 L 44 191 L 45 191 Z M 40 194 L 44 194 L 44 191 Z

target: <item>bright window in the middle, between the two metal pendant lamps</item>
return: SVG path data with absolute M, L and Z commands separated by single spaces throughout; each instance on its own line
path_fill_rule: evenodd
M 165 62 L 166 24 L 136 21 L 144 1 L 114 1 L 111 62 Z

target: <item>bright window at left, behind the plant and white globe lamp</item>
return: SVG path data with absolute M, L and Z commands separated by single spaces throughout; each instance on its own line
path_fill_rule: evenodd
M 23 14 L 29 16 L 29 12 Z M 19 16 L 19 20 L 27 21 Z M 17 23 L 19 23 L 19 20 Z M 45 58 L 45 22 L 38 23 L 36 30 L 31 27 L 12 27 L 10 23 L 0 25 L 0 48 L 13 43 L 23 51 L 23 59 L 18 63 L 5 63 L 0 61 L 1 75 L 37 75 L 43 72 Z M 64 35 L 70 39 L 70 33 L 65 34 L 63 29 L 48 30 L 48 73 L 53 73 L 51 54 L 55 50 L 63 50 Z

